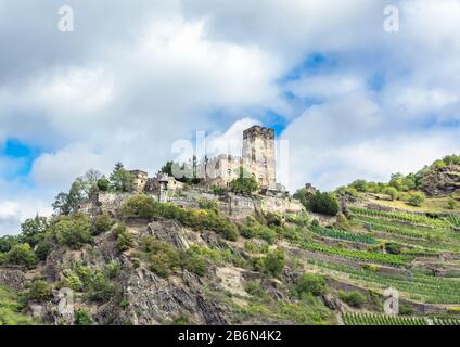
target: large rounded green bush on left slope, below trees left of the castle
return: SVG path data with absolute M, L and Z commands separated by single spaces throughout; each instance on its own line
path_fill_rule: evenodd
M 82 214 L 61 216 L 51 226 L 51 230 L 60 245 L 66 245 L 73 249 L 79 249 L 92 242 L 91 220 Z

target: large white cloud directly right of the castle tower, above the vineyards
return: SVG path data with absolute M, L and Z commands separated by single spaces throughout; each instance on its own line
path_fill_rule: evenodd
M 363 178 L 387 181 L 458 152 L 460 128 L 395 127 L 392 117 L 363 95 L 312 106 L 289 125 L 290 189 L 314 183 L 332 190 Z

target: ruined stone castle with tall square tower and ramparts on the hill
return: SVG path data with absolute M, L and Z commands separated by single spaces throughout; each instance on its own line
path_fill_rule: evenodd
M 271 213 L 302 213 L 305 207 L 292 198 L 284 187 L 277 183 L 274 130 L 254 126 L 243 132 L 241 156 L 228 154 L 217 155 L 209 160 L 196 164 L 196 171 L 203 169 L 205 178 L 190 187 L 173 176 L 159 172 L 149 178 L 148 172 L 141 170 L 129 171 L 133 177 L 136 192 L 151 194 L 158 202 L 173 203 L 181 207 L 196 208 L 203 200 L 214 201 L 222 214 L 232 218 L 245 218 L 254 210 Z M 202 167 L 201 167 L 202 166 Z M 230 182 L 241 177 L 243 167 L 244 177 L 254 178 L 259 184 L 259 194 L 244 196 L 227 191 L 226 194 L 216 194 L 213 185 L 227 188 Z M 99 205 L 102 208 L 116 210 L 116 206 L 129 196 L 112 192 L 99 194 Z

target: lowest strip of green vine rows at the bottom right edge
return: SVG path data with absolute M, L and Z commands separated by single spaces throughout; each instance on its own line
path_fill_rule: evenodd
M 344 313 L 345 325 L 427 325 L 421 317 L 401 317 L 387 314 Z

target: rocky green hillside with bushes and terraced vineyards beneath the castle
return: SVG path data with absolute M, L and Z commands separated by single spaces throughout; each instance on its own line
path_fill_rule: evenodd
M 457 167 L 294 196 L 251 178 L 156 194 L 123 165 L 91 171 L 53 217 L 0 239 L 0 323 L 459 323 L 458 191 L 424 191 Z M 384 314 L 388 287 L 398 317 Z

